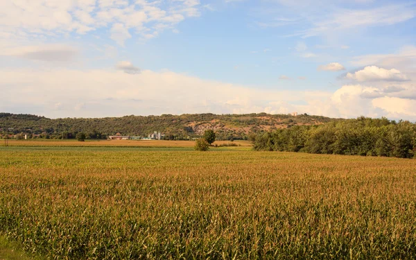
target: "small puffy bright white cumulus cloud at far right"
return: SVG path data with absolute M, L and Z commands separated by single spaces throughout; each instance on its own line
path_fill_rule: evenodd
M 407 81 L 406 75 L 397 69 L 383 69 L 376 66 L 367 66 L 360 71 L 347 73 L 345 78 L 357 81 Z

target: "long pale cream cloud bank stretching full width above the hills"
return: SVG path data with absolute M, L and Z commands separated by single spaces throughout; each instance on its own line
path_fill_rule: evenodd
M 119 65 L 134 67 L 130 62 Z M 0 103 L 0 111 L 50 117 L 297 111 L 332 117 L 365 115 L 416 120 L 412 110 L 416 87 L 407 82 L 395 84 L 397 89 L 385 83 L 345 85 L 336 92 L 320 92 L 277 90 L 278 86 L 251 88 L 149 70 L 131 76 L 114 69 L 0 69 L 0 78 L 1 92 L 8 96 Z M 395 107 L 397 104 L 400 106 Z

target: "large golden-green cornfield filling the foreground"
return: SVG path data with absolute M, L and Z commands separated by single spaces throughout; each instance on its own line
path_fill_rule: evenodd
M 415 259 L 415 187 L 416 159 L 0 147 L 0 235 L 44 259 Z

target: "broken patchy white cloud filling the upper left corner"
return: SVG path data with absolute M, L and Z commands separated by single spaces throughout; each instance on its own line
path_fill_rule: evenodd
M 188 17 L 200 15 L 197 0 L 8 0 L 0 1 L 0 39 L 58 37 L 85 34 L 99 28 L 110 30 L 120 45 L 132 35 L 161 33 Z M 153 33 L 153 35 L 157 35 Z

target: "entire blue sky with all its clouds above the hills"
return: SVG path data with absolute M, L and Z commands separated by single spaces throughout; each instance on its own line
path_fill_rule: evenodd
M 0 112 L 416 121 L 416 1 L 0 1 Z

